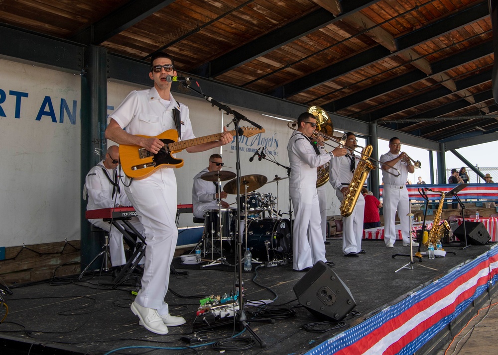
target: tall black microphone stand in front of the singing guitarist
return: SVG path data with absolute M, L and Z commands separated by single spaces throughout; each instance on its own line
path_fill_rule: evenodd
M 188 82 L 182 83 L 182 85 L 185 88 L 191 89 L 191 90 L 197 92 L 198 94 L 202 95 L 202 97 L 204 97 L 208 102 L 211 102 L 212 106 L 217 106 L 220 111 L 225 111 L 227 115 L 232 114 L 234 116 L 234 119 L 232 120 L 232 122 L 234 123 L 234 128 L 235 128 L 235 131 L 237 132 L 238 136 L 242 135 L 242 133 L 243 133 L 242 130 L 239 130 L 239 122 L 241 120 L 249 122 L 254 127 L 257 127 L 258 129 L 263 128 L 260 125 L 258 125 L 257 123 L 249 120 L 243 114 L 237 112 L 236 110 L 232 110 L 229 106 L 224 105 L 224 104 L 216 101 L 212 97 L 205 95 L 200 90 L 192 88 L 190 86 L 190 83 L 188 83 Z M 238 137 L 235 140 L 235 144 L 236 144 L 236 148 L 237 148 L 236 149 L 236 172 L 237 172 L 237 226 L 236 226 L 237 233 L 236 233 L 236 235 L 238 237 L 237 252 L 239 255 L 237 256 L 237 259 L 238 259 L 238 263 L 239 263 L 239 285 L 240 285 L 239 286 L 239 294 L 238 294 L 240 309 L 239 309 L 239 311 L 236 312 L 235 321 L 238 325 L 239 330 L 242 331 L 244 328 L 247 329 L 249 331 L 249 333 L 254 337 L 254 339 L 256 339 L 256 341 L 259 343 L 259 346 L 261 348 L 266 348 L 266 343 L 263 340 L 261 340 L 261 338 L 259 338 L 256 333 L 254 333 L 254 331 L 251 329 L 251 327 L 247 323 L 248 319 L 247 319 L 246 311 L 244 310 L 245 304 L 244 304 L 244 297 L 242 294 L 242 234 L 240 232 L 240 225 L 241 225 L 241 199 L 240 199 L 240 196 L 241 196 L 241 159 L 240 159 L 239 138 Z M 250 322 L 273 323 L 274 321 L 273 320 L 264 320 L 264 319 L 251 319 Z

